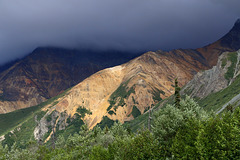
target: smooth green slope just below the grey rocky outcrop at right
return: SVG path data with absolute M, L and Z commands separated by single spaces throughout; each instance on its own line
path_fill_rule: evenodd
M 216 111 L 222 107 L 226 102 L 230 101 L 234 96 L 240 93 L 240 75 L 236 80 L 227 88 L 208 95 L 207 97 L 199 100 L 199 105 L 204 107 L 207 111 Z

